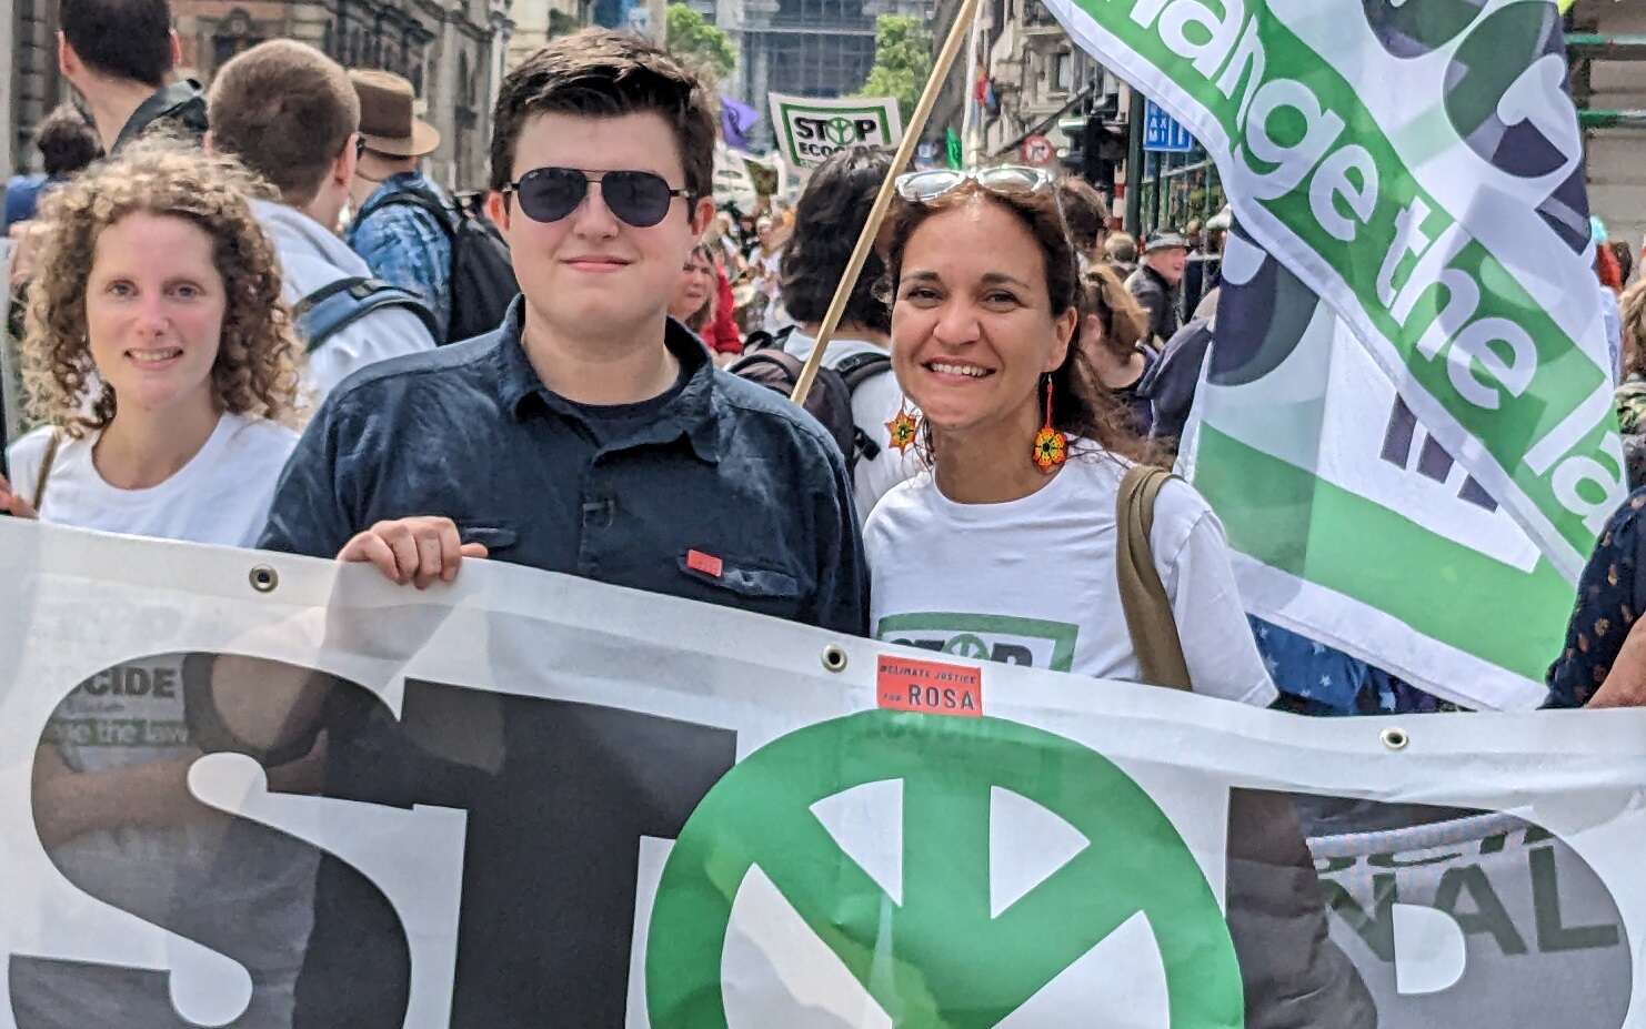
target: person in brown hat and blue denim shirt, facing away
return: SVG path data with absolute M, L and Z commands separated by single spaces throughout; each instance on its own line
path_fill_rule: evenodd
M 435 312 L 435 339 L 451 325 L 451 201 L 428 176 L 423 158 L 439 132 L 415 113 L 412 82 L 387 71 L 351 69 L 360 104 L 360 159 L 354 166 L 354 217 L 344 240 L 372 275 L 423 298 Z

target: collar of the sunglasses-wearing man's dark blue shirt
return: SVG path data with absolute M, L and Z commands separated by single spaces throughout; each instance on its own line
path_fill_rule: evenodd
M 525 353 L 522 340 L 522 324 L 525 319 L 525 298 L 515 298 L 509 306 L 509 314 L 499 329 L 499 375 L 497 390 L 504 411 L 515 421 L 522 421 L 530 404 L 546 404 L 561 408 L 565 401 L 543 385 L 537 368 Z M 657 419 L 635 432 L 629 445 L 660 444 L 680 439 L 691 444 L 691 450 L 709 464 L 719 462 L 719 386 L 714 383 L 714 363 L 708 350 L 696 335 L 675 319 L 668 319 L 663 329 L 663 345 L 680 362 L 685 386 L 658 413 Z

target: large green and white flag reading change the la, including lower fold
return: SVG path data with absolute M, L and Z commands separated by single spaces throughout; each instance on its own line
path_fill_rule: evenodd
M 1249 233 L 1185 464 L 1248 607 L 1463 704 L 1536 704 L 1626 491 L 1555 5 L 1049 7 L 1203 141 Z

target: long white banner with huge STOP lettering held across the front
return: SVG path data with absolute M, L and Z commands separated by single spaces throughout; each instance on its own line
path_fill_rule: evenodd
M 0 584 L 0 1026 L 1646 1024 L 1638 712 L 1307 720 L 16 521 Z

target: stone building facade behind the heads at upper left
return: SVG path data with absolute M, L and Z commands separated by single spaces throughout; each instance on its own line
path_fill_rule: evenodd
M 7 140 L 13 168 L 33 161 L 33 125 L 67 89 L 56 71 L 58 0 L 13 0 L 13 84 Z M 171 0 L 183 72 L 209 82 L 224 61 L 263 39 L 311 43 L 346 67 L 410 79 L 441 146 L 425 164 L 439 182 L 486 182 L 491 110 L 514 21 L 509 0 Z

